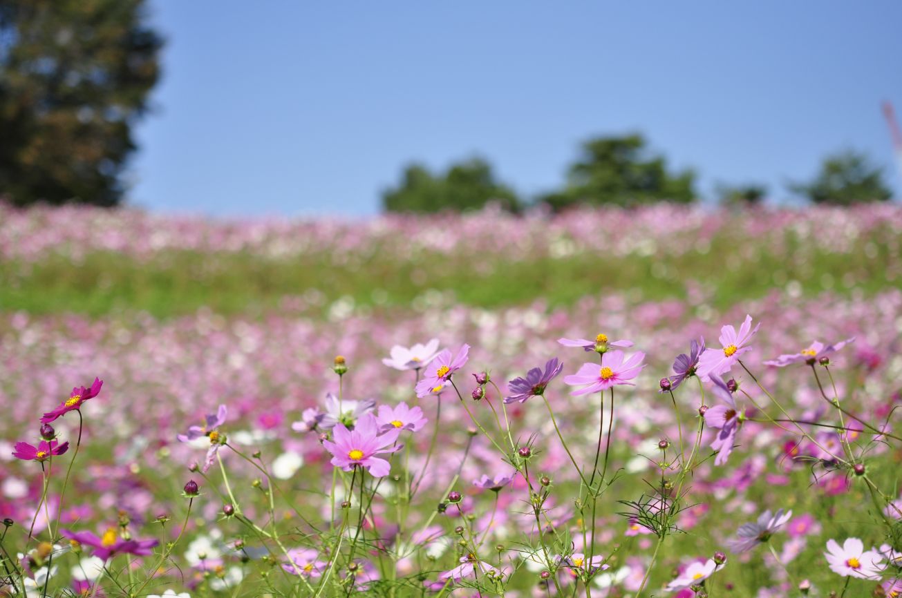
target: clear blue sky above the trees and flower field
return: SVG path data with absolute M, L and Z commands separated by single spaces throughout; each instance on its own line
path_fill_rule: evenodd
M 371 214 L 410 160 L 481 155 L 527 195 L 578 143 L 644 131 L 712 195 L 812 177 L 854 147 L 902 195 L 899 0 L 152 0 L 168 39 L 133 204 Z

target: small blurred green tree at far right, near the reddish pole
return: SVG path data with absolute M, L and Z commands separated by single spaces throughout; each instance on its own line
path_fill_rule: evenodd
M 853 149 L 827 156 L 813 181 L 791 183 L 789 188 L 815 204 L 885 202 L 893 195 L 883 180 L 883 168 Z

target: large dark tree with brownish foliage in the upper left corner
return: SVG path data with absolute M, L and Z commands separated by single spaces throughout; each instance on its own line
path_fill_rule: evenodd
M 143 0 L 0 0 L 0 193 L 118 204 L 160 75 Z

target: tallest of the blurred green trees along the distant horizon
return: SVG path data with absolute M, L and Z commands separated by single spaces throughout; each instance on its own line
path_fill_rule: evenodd
M 574 204 L 688 204 L 695 201 L 694 186 L 692 170 L 668 172 L 667 159 L 651 155 L 642 135 L 600 137 L 583 144 L 564 189 L 542 201 L 556 210 Z

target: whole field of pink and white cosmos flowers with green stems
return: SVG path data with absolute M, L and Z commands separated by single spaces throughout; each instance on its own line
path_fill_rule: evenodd
M 899 595 L 900 232 L 0 208 L 0 593 Z

